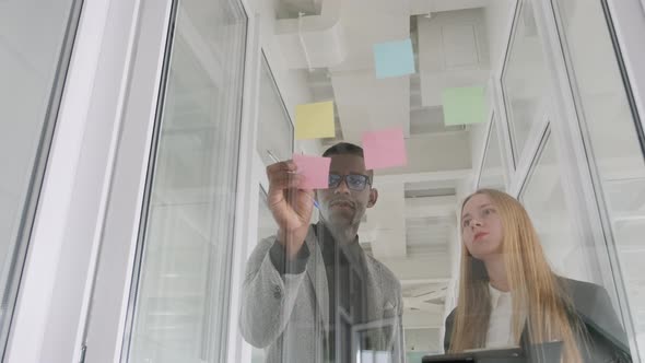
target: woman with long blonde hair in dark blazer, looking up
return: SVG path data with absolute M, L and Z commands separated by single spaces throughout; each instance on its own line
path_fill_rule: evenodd
M 562 362 L 631 362 L 607 292 L 553 273 L 524 207 L 482 189 L 461 208 L 461 277 L 447 352 L 562 341 Z M 533 350 L 535 352 L 535 350 Z

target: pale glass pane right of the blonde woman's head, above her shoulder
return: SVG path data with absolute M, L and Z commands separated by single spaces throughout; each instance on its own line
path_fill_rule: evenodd
M 549 137 L 543 142 L 520 200 L 554 271 L 578 280 L 593 280 L 593 266 L 585 255 L 585 245 L 573 231 L 575 223 L 566 207 L 554 142 Z

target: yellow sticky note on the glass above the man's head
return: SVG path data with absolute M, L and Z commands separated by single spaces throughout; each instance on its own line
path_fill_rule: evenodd
M 333 137 L 336 137 L 333 102 L 319 102 L 295 107 L 296 140 Z

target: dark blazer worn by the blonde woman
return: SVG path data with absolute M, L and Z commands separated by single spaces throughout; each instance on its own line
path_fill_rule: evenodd
M 607 291 L 596 284 L 559 278 L 568 294 L 575 314 L 587 332 L 587 343 L 578 338 L 584 362 L 632 362 L 628 337 L 615 315 Z M 455 311 L 446 318 L 444 349 L 450 347 Z M 528 348 L 527 330 L 521 333 L 520 346 Z M 587 347 L 587 348 L 585 348 Z

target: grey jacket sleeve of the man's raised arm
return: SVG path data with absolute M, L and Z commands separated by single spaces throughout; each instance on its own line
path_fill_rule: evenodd
M 242 286 L 239 328 L 244 339 L 266 348 L 282 333 L 306 273 L 281 274 L 271 260 L 275 237 L 261 241 L 250 255 Z

